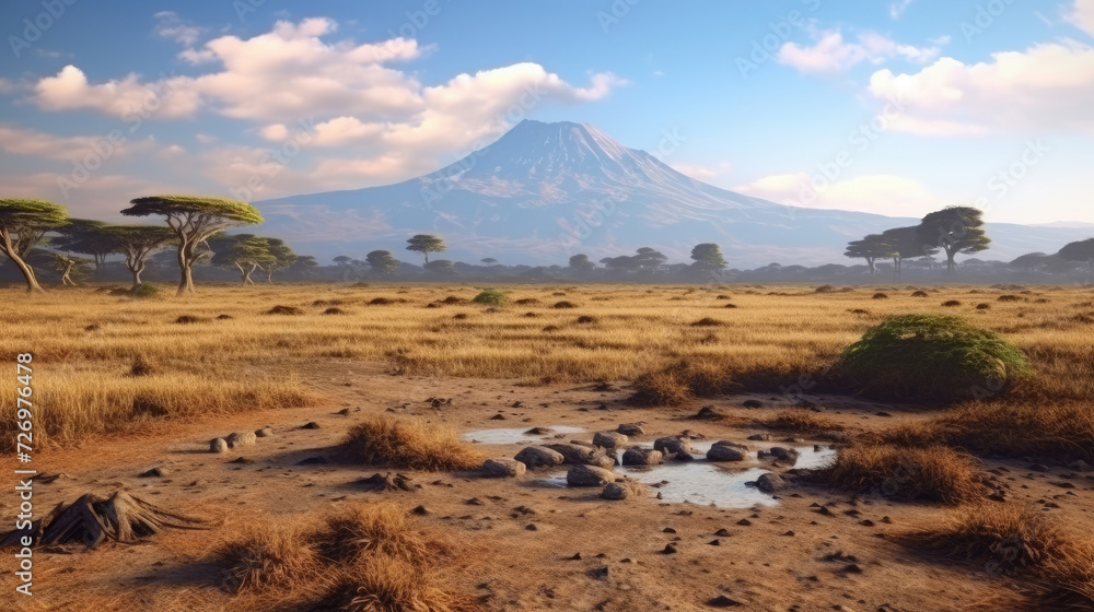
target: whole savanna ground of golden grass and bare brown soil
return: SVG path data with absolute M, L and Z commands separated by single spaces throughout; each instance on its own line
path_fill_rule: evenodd
M 176 478 L 206 485 L 153 489 L 228 517 L 212 536 L 166 538 L 186 579 L 123 595 L 123 578 L 91 576 L 90 595 L 51 593 L 50 609 L 687 611 L 718 604 L 719 592 L 743 610 L 1094 609 L 1090 287 L 508 285 L 492 287 L 503 303 L 474 303 L 485 289 L 202 285 L 181 298 L 0 290 L 0 358 L 34 354 L 44 460 L 65 468 L 83 449 L 116 448 L 124 468 L 100 462 L 84 474 L 114 482 L 129 463 L 212 457 Z M 1000 365 L 1002 378 L 950 396 L 864 390 L 841 355 L 904 315 L 994 332 L 1022 367 L 1006 376 Z M 700 405 L 717 416 L 696 420 Z M 9 451 L 13 410 L 3 404 Z M 322 428 L 286 425 L 274 438 L 284 446 L 246 450 L 232 472 L 205 450 L 210 431 L 276 419 Z M 608 511 L 595 497 L 558 495 L 569 490 L 461 475 L 490 456 L 459 438 L 469 427 L 638 421 L 660 432 L 651 436 L 824 440 L 837 458 L 787 472 L 795 489 L 780 505 L 736 511 L 642 499 Z M 358 475 L 376 466 L 429 484 L 382 494 L 395 505 L 346 499 L 338 461 L 305 474 L 287 462 L 310 452 L 364 466 Z M 290 486 L 301 493 L 280 497 Z M 714 527 L 725 527 L 721 549 L 706 545 Z M 138 558 L 163 561 L 153 553 Z M 612 578 L 590 563 L 607 564 Z M 202 573 L 223 578 L 207 589 L 194 577 Z

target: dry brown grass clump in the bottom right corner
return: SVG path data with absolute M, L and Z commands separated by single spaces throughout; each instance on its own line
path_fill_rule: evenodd
M 944 527 L 899 540 L 991 575 L 1021 577 L 1020 592 L 993 610 L 1094 610 L 1094 542 L 1064 532 L 1043 513 L 1016 504 L 961 508 Z

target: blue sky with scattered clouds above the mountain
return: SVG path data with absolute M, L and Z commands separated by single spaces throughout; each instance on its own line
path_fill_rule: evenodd
M 80 216 L 156 191 L 395 183 L 527 117 L 590 121 L 783 203 L 1094 223 L 1094 0 L 47 0 L 0 15 L 0 180 Z

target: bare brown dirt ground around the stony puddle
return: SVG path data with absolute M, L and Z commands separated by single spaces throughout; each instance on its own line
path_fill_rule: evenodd
M 453 580 L 478 597 L 484 610 L 685 612 L 714 609 L 711 600 L 724 596 L 738 605 L 725 600 L 723 604 L 736 610 L 956 611 L 988 601 L 1001 589 L 1021 587 L 1006 576 L 992 576 L 988 568 L 924 557 L 893 540 L 894 534 L 944 521 L 950 509 L 936 505 L 810 485 L 778 494 L 777 505 L 752 508 L 666 504 L 652 496 L 653 490 L 641 498 L 605 501 L 597 497 L 598 489 L 550 486 L 534 472 L 488 480 L 404 471 L 421 487 L 374 493 L 353 482 L 388 470 L 339 462 L 333 449 L 357 417 L 382 411 L 421 415 L 461 432 L 568 424 L 586 429 L 568 439 L 590 440 L 594 432 L 644 422 L 647 434 L 633 438 L 637 442 L 684 429 L 711 439 L 744 442 L 765 432 L 757 422 L 791 405 L 791 398 L 725 397 L 668 411 L 627 405 L 622 382 L 606 389 L 522 387 L 500 380 L 389 376 L 380 366 L 348 360 L 317 364 L 307 376 L 329 402 L 173 424 L 37 458 L 42 474 L 65 474 L 48 484 L 36 482 L 39 516 L 83 493 L 124 489 L 164 508 L 220 518 L 223 523 L 136 545 L 105 544 L 94 552 L 37 551 L 34 597 L 15 595 L 12 586 L 0 596 L 0 608 L 77 610 L 88 604 L 90 596 L 109 601 L 110 593 L 121 591 L 177 589 L 202 602 L 199 609 L 246 609 L 222 589 L 210 561 L 210 551 L 232 536 L 233 526 L 264 515 L 306 517 L 347 501 L 381 498 L 408 510 L 427 509 L 418 520 L 456 544 L 461 554 L 450 568 Z M 452 401 L 433 408 L 430 398 Z M 764 405 L 744 408 L 746 399 Z M 810 399 L 851 431 L 932 414 L 848 398 Z M 710 404 L 729 419 L 689 419 Z M 338 414 L 342 409 L 349 413 Z M 498 414 L 504 420 L 496 419 Z M 309 422 L 318 428 L 302 428 Z M 212 437 L 263 426 L 271 426 L 276 435 L 223 455 L 208 451 Z M 773 439 L 784 435 L 772 432 Z M 520 448 L 501 445 L 482 450 L 512 457 Z M 298 464 L 312 457 L 328 462 Z M 1052 466 L 1034 471 L 1029 463 L 986 461 L 984 468 L 1010 485 L 1012 499 L 1034 503 L 1064 523 L 1094 523 L 1094 476 Z M 153 467 L 168 472 L 162 478 L 139 475 Z M 819 506 L 829 513 L 819 513 Z M 16 514 L 12 495 L 0 497 L 0 514 Z M 723 529 L 728 536 L 715 536 Z M 714 540 L 718 545 L 711 544 Z M 676 548 L 673 554 L 664 552 L 670 543 Z M 839 561 L 824 561 L 837 552 L 842 553 L 836 555 Z M 573 558 L 578 553 L 580 558 Z M 3 584 L 13 585 L 13 560 L 4 556 L 0 575 Z

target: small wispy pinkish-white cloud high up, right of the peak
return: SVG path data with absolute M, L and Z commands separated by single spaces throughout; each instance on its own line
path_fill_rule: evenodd
M 883 63 L 893 58 L 903 58 L 917 63 L 927 63 L 939 57 L 948 37 L 932 40 L 930 47 L 903 45 L 874 32 L 857 35 L 856 42 L 843 39 L 837 31 L 819 32 L 812 47 L 796 43 L 784 43 L 776 56 L 779 63 L 791 66 L 799 72 L 831 73 L 848 70 L 862 62 Z

